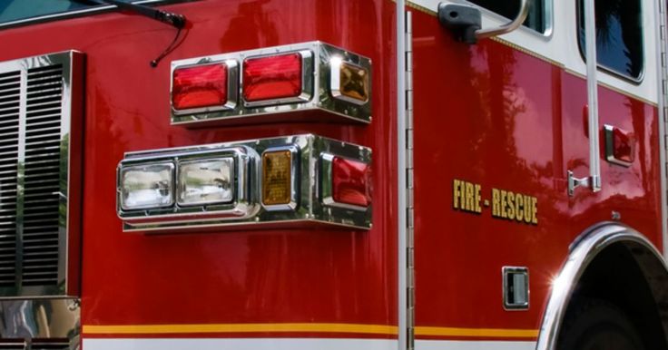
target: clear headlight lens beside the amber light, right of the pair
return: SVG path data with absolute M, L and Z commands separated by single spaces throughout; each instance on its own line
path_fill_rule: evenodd
M 179 164 L 179 204 L 231 203 L 234 160 L 196 160 Z

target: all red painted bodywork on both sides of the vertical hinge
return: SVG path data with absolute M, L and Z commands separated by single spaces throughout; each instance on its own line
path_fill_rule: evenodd
M 396 40 L 394 6 L 387 0 L 170 5 L 189 23 L 182 44 L 155 69 L 149 62 L 174 31 L 137 15 L 2 32 L 12 47 L 0 51 L 2 61 L 68 49 L 87 55 L 83 325 L 397 325 L 396 57 L 388 49 Z M 604 190 L 569 198 L 566 170 L 588 173 L 585 80 L 496 41 L 455 43 L 433 15 L 414 11 L 413 24 L 417 326 L 537 329 L 569 244 L 611 219 L 613 210 L 661 246 L 655 107 L 600 89 L 602 124 L 634 133 L 636 159 L 630 168 L 602 162 Z M 370 125 L 170 125 L 169 60 L 312 40 L 373 60 Z M 371 230 L 122 232 L 115 169 L 123 152 L 303 132 L 373 149 Z M 492 200 L 493 189 L 535 197 L 537 224 L 494 218 L 491 206 L 480 213 L 453 209 L 456 179 L 479 184 L 482 199 Z M 529 267 L 528 311 L 503 309 L 503 266 Z M 241 336 L 260 335 L 270 334 Z

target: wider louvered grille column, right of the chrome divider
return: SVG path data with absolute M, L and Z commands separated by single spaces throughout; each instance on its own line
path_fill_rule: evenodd
M 58 282 L 63 66 L 28 70 L 25 113 L 23 286 Z

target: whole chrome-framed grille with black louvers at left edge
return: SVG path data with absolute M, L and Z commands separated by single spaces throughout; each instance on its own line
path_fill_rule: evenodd
M 82 63 L 74 52 L 0 63 L 0 297 L 68 293 L 69 147 Z

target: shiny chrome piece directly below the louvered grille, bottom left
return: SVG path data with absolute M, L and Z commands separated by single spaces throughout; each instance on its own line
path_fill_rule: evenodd
M 79 349 L 80 305 L 74 298 L 0 301 L 0 339 L 32 343 L 38 338 L 39 344 L 69 343 L 69 349 Z

